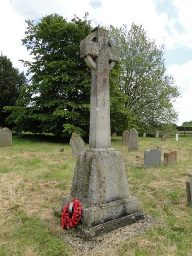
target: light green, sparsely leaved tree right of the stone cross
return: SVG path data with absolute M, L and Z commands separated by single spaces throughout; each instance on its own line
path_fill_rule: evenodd
M 166 74 L 163 46 L 147 37 L 142 25 L 132 24 L 128 30 L 108 27 L 111 38 L 120 50 L 122 73 L 120 90 L 127 96 L 124 107 L 131 111 L 132 126 L 147 130 L 175 122 L 173 101 L 180 95 L 174 79 Z

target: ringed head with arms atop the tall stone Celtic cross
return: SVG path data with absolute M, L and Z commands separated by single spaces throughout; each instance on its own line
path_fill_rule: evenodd
M 80 41 L 80 57 L 83 57 L 91 70 L 96 69 L 95 59 L 104 51 L 108 55 L 109 70 L 119 62 L 119 52 L 108 37 L 108 30 L 96 27 L 90 35 Z

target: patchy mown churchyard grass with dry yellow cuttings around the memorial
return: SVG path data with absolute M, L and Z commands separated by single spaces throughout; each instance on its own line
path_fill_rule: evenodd
M 162 165 L 141 168 L 144 150 L 157 146 L 162 147 Z M 165 225 L 93 246 L 88 254 L 191 256 L 192 208 L 187 207 L 185 180 L 192 171 L 192 137 L 177 142 L 139 138 L 137 152 L 128 152 L 117 137 L 112 147 L 123 154 L 130 193 L 139 198 L 140 209 Z M 163 154 L 175 150 L 177 165 L 164 166 Z M 57 233 L 71 231 L 63 231 L 53 216 L 61 196 L 70 194 L 75 162 L 69 144 L 13 136 L 12 146 L 0 148 L 0 256 L 87 255 L 78 251 L 80 245 L 59 238 Z

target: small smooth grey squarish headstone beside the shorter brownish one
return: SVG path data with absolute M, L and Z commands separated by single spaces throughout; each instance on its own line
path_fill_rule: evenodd
M 161 165 L 161 151 L 148 149 L 144 151 L 144 168 Z

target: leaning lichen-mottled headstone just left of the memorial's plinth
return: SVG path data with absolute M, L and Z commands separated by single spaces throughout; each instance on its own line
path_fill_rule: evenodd
M 72 147 L 72 156 L 76 157 L 84 150 L 84 140 L 76 133 L 72 133 L 69 145 Z

